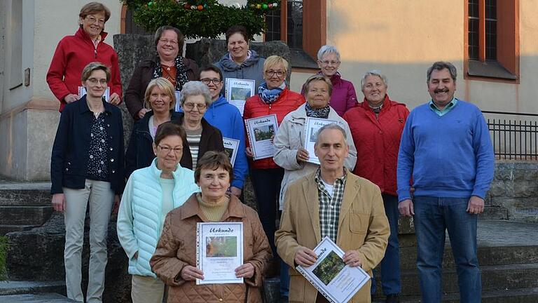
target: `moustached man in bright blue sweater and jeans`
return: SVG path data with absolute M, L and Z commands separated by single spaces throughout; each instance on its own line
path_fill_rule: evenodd
M 398 208 L 415 222 L 422 302 L 441 302 L 446 230 L 460 302 L 481 302 L 476 221 L 493 179 L 490 134 L 480 109 L 454 97 L 454 65 L 435 62 L 427 71 L 427 85 L 432 100 L 413 109 L 401 135 Z

